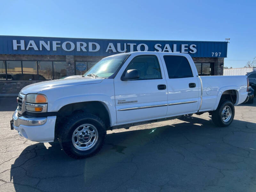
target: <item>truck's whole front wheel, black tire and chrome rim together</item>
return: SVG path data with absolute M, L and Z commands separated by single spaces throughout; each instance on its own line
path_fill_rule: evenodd
M 60 146 L 65 153 L 76 159 L 96 154 L 106 137 L 104 122 L 93 114 L 75 114 L 60 129 Z

